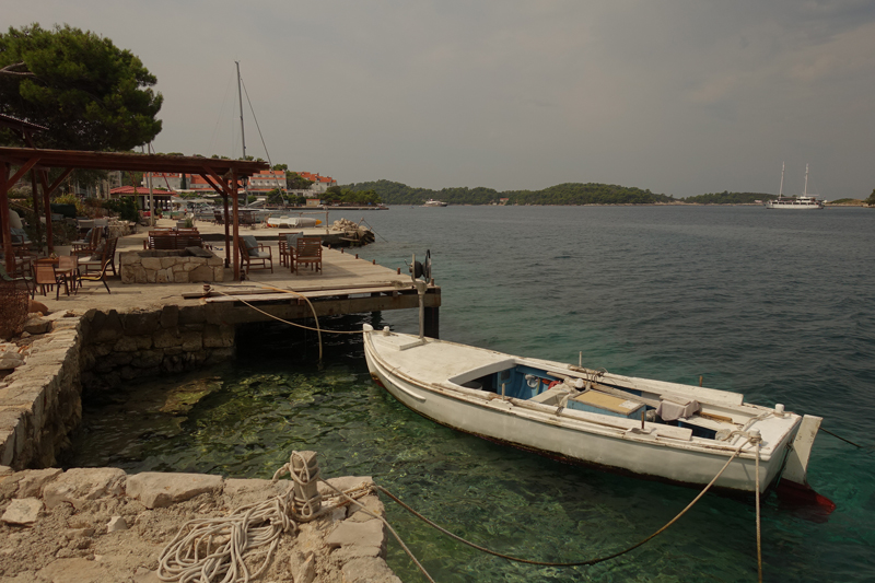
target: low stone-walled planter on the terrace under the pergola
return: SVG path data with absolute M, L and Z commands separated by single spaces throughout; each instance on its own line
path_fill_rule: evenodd
M 130 250 L 122 252 L 119 257 L 121 283 L 196 283 L 224 279 L 224 260 L 199 247 Z

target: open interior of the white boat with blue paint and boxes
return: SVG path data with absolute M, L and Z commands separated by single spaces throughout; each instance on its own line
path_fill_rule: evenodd
M 713 407 L 709 409 L 714 410 L 707 412 L 702 404 L 691 398 L 620 386 L 609 383 L 600 371 L 551 371 L 512 359 L 448 381 L 506 398 L 689 429 L 691 436 L 708 440 L 723 438 L 754 417 L 745 415 L 743 419 L 735 419 L 737 408 L 733 408 L 732 415 L 725 408 Z M 740 405 L 742 396 L 738 397 Z

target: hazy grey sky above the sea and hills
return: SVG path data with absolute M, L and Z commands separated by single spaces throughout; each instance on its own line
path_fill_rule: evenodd
M 687 197 L 875 188 L 872 0 L 0 0 L 138 55 L 160 152 L 240 156 L 234 61 L 270 160 L 340 184 Z M 245 100 L 245 96 L 244 96 Z M 265 148 L 248 106 L 247 153 Z

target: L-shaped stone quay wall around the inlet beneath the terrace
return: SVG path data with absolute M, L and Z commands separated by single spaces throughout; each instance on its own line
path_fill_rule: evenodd
M 49 467 L 82 418 L 82 395 L 132 378 L 196 370 L 233 358 L 221 307 L 59 312 L 45 318 L 25 363 L 0 380 L 0 465 Z

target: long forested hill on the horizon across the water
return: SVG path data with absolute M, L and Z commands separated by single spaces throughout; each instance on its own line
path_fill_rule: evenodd
M 490 205 L 506 198 L 508 205 L 652 205 L 676 202 L 672 196 L 654 195 L 650 190 L 610 184 L 558 184 L 542 190 L 505 190 L 492 188 L 413 188 L 401 183 L 376 180 L 353 183 L 343 188 L 374 190 L 387 205 L 422 205 L 430 198 L 450 205 Z

